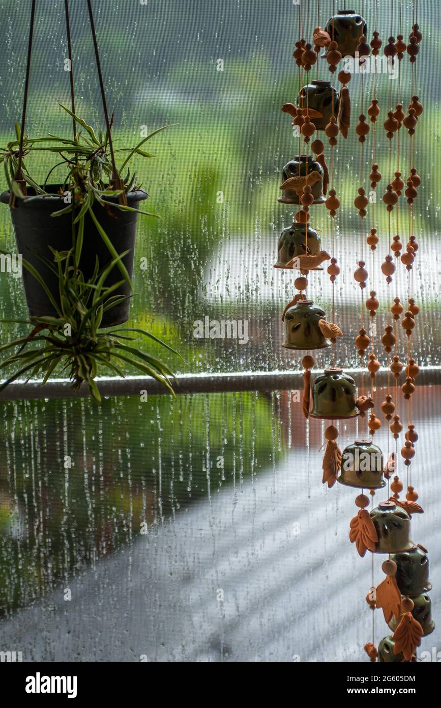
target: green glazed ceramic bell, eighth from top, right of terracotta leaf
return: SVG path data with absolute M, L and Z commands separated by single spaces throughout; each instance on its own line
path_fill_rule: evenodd
M 375 553 L 400 553 L 413 548 L 410 539 L 411 520 L 407 511 L 393 501 L 380 501 L 370 512 L 378 542 Z

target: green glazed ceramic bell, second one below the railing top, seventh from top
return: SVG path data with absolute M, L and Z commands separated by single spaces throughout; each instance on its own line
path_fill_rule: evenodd
M 383 454 L 372 440 L 355 440 L 343 450 L 340 484 L 365 489 L 380 489 L 386 486 L 383 479 Z

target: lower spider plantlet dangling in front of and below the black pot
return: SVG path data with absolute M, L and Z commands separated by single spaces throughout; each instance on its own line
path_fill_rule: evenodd
M 0 370 L 9 366 L 16 367 L 13 375 L 0 385 L 0 391 L 22 376 L 28 381 L 40 375 L 41 385 L 44 385 L 60 365 L 61 371 L 69 375 L 71 389 L 76 391 L 85 382 L 90 396 L 99 404 L 101 396 L 95 382 L 98 371 L 104 368 L 124 377 L 124 367 L 130 365 L 144 375 L 152 376 L 174 395 L 170 368 L 155 357 L 143 353 L 132 342 L 141 335 L 180 356 L 172 347 L 143 329 L 124 327 L 106 333 L 99 331 L 106 309 L 127 297 L 114 295 L 122 280 L 110 287 L 105 286 L 110 270 L 125 254 L 120 253 L 101 270 L 97 259 L 93 276 L 86 281 L 76 265 L 73 249 L 64 252 L 51 250 L 54 261 L 51 263 L 47 260 L 47 265 L 58 275 L 60 304 L 57 304 L 35 268 L 24 259 L 23 265 L 45 288 L 47 296 L 57 310 L 57 316 L 31 318 L 27 324 L 33 326 L 33 329 L 27 336 L 21 336 L 0 346 L 0 353 L 17 348 L 16 353 L 8 355 L 0 362 Z

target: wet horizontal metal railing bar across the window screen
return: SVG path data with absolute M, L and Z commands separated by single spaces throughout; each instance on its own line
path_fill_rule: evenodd
M 355 377 L 359 384 L 360 368 L 345 369 L 346 373 Z M 365 370 L 364 370 L 365 371 Z M 313 369 L 312 378 L 323 372 L 323 369 Z M 203 374 L 180 374 L 176 376 L 172 387 L 177 394 L 204 394 L 240 391 L 283 391 L 302 389 L 302 371 L 245 371 Z M 387 368 L 381 368 L 375 376 L 375 387 L 387 386 L 389 374 L 390 385 L 394 387 L 394 377 Z M 95 379 L 102 396 L 140 396 L 147 394 L 168 394 L 161 384 L 151 377 L 127 376 L 125 379 L 116 377 L 101 377 Z M 399 385 L 404 383 L 404 374 L 399 378 Z M 417 379 L 418 386 L 436 386 L 441 384 L 441 366 L 421 367 Z M 28 383 L 16 381 L 0 392 L 0 401 L 19 401 L 33 399 L 71 399 L 88 396 L 86 385 L 73 392 L 68 379 L 49 379 L 45 386 L 40 381 Z

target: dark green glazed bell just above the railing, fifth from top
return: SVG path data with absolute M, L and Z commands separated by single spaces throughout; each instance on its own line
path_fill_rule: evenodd
M 319 321 L 326 319 L 324 310 L 312 300 L 299 300 L 285 313 L 286 349 L 323 349 L 329 341 L 319 328 Z

